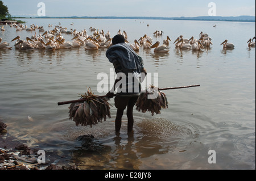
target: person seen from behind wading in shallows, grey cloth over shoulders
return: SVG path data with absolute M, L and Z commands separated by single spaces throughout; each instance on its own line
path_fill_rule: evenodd
M 141 94 L 141 81 L 143 81 L 142 79 L 146 76 L 147 71 L 143 67 L 142 58 L 125 43 L 125 37 L 122 35 L 114 36 L 112 44 L 112 47 L 106 51 L 106 57 L 114 65 L 117 79 L 115 79 L 114 86 L 107 96 L 113 98 L 115 89 L 118 89 L 115 96 L 115 107 L 117 108 L 115 133 L 118 136 L 120 134 L 123 111 L 126 107 L 127 132 L 131 133 L 133 131 L 133 108 Z

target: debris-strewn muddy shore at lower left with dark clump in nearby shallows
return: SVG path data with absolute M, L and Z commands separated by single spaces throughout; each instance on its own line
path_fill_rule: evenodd
M 2 120 L 0 125 L 0 170 L 79 170 L 70 155 L 51 150 L 47 157 L 43 157 L 38 147 L 28 147 L 24 140 L 11 136 Z M 95 144 L 92 135 L 80 136 L 77 141 L 83 150 L 101 150 L 101 145 Z

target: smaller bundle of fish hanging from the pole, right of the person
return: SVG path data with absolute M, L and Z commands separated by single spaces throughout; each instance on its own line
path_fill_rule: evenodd
M 159 91 L 156 87 L 152 86 L 142 92 L 136 103 L 136 110 L 139 112 L 151 112 L 160 114 L 160 110 L 168 108 L 167 97 L 164 92 Z

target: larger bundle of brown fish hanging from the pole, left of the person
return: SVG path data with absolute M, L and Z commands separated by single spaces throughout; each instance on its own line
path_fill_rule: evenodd
M 106 96 L 97 96 L 88 89 L 87 94 L 81 95 L 81 102 L 72 103 L 69 107 L 69 120 L 76 122 L 76 125 L 95 125 L 102 119 L 110 116 L 110 107 Z

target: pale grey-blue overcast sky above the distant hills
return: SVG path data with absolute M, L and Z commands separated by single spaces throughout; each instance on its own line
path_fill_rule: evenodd
M 38 16 L 39 2 L 46 16 L 208 16 L 210 2 L 217 16 L 255 16 L 254 0 L 2 0 L 12 16 Z

